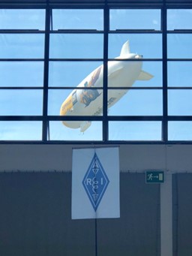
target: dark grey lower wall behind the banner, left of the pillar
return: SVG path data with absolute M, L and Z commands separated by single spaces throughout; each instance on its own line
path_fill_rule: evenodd
M 98 255 L 159 255 L 159 185 L 120 182 L 121 218 L 98 219 Z M 0 203 L 1 255 L 95 255 L 95 220 L 71 220 L 71 173 L 0 173 Z

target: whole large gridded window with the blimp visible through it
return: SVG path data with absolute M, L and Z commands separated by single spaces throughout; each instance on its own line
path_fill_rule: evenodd
M 192 140 L 192 8 L 0 9 L 0 141 Z

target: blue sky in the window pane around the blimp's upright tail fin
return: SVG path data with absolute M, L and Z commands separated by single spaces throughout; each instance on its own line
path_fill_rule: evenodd
M 110 34 L 109 58 L 120 56 L 121 48 L 127 41 L 129 41 L 130 53 L 137 53 L 145 59 L 162 57 L 162 36 L 160 34 Z

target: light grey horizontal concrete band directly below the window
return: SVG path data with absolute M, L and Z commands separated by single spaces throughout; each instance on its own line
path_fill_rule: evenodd
M 90 145 L 0 145 L 0 171 L 62 170 L 72 167 L 72 149 Z M 143 172 L 165 170 L 169 173 L 192 172 L 190 145 L 121 145 L 120 170 Z

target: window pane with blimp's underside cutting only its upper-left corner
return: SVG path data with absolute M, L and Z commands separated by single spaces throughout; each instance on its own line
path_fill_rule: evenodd
M 130 89 L 127 94 L 126 92 L 125 89 L 108 90 L 108 106 L 113 106 L 110 107 L 110 116 L 161 116 L 163 114 L 161 90 Z

